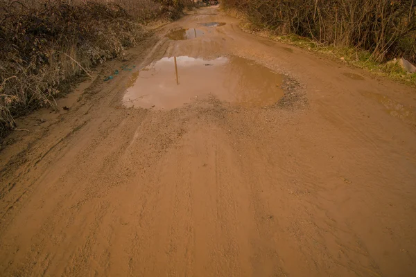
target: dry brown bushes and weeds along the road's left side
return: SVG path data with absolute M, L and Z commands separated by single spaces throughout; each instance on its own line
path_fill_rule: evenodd
M 19 115 L 55 105 L 64 84 L 123 54 L 146 24 L 191 0 L 0 0 L 0 138 Z

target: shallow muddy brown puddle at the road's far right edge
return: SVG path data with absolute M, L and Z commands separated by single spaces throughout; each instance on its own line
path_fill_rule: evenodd
M 376 100 L 385 107 L 385 111 L 391 116 L 395 116 L 410 123 L 416 123 L 416 108 L 401 105 L 399 102 L 371 91 L 361 91 L 362 96 Z

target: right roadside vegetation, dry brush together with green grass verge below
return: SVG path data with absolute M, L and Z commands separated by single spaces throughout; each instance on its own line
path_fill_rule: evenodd
M 416 85 L 415 0 L 223 0 L 242 27 Z

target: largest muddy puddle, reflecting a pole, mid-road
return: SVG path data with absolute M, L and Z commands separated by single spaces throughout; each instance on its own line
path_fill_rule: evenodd
M 132 73 L 125 107 L 174 109 L 215 96 L 243 107 L 265 107 L 284 96 L 283 76 L 242 57 L 164 57 Z

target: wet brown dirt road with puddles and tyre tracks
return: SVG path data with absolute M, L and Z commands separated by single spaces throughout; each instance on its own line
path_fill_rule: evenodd
M 1 276 L 416 276 L 415 89 L 218 8 L 94 78 L 1 150 Z

